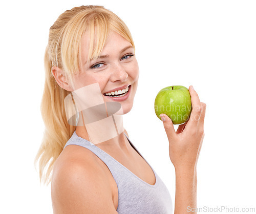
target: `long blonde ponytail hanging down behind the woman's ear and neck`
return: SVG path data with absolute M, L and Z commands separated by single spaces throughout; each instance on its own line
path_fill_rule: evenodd
M 47 185 L 51 182 L 54 162 L 75 131 L 75 126 L 68 123 L 65 113 L 64 99 L 70 92 L 59 87 L 51 69 L 47 47 L 45 88 L 41 100 L 41 115 L 45 123 L 45 132 L 35 157 L 35 164 L 39 160 L 40 182 Z

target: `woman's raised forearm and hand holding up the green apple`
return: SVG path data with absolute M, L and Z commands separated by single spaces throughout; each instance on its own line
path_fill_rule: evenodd
M 169 156 L 176 173 L 175 214 L 197 213 L 197 161 L 204 138 L 206 104 L 189 87 L 192 112 L 189 120 L 175 132 L 172 120 L 165 115 L 164 129 L 169 140 Z

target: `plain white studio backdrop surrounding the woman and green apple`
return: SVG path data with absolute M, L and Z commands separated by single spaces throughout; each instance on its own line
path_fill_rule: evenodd
M 131 30 L 139 85 L 124 128 L 175 199 L 168 139 L 154 112 L 170 85 L 194 85 L 207 104 L 198 207 L 255 207 L 255 1 L 10 1 L 1 3 L 0 213 L 52 213 L 33 161 L 44 123 L 43 58 L 65 10 L 103 5 Z M 225 212 L 223 212 L 225 213 Z

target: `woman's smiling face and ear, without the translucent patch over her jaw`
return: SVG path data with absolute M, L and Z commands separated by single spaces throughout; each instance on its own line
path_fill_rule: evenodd
M 119 102 L 122 105 L 123 114 L 130 112 L 139 78 L 138 62 L 131 42 L 112 31 L 105 42 L 100 57 L 86 63 L 89 42 L 85 34 L 82 38 L 81 72 L 73 78 L 74 90 L 98 83 L 104 102 Z M 105 95 L 105 93 L 109 94 L 111 92 L 111 95 L 113 95 L 113 92 L 118 92 L 127 88 L 127 86 L 129 86 L 129 91 L 123 97 Z

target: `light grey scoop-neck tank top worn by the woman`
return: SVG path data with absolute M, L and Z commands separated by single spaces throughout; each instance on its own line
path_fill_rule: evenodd
M 130 139 L 127 136 L 126 138 L 145 160 Z M 156 183 L 154 185 L 148 184 L 137 177 L 108 153 L 105 153 L 90 141 L 79 137 L 76 132 L 73 133 L 65 147 L 68 145 L 79 145 L 90 149 L 109 167 L 118 187 L 117 212 L 119 214 L 165 214 L 173 212 L 172 199 L 170 198 L 167 187 L 146 160 L 146 163 L 150 165 L 155 174 Z

